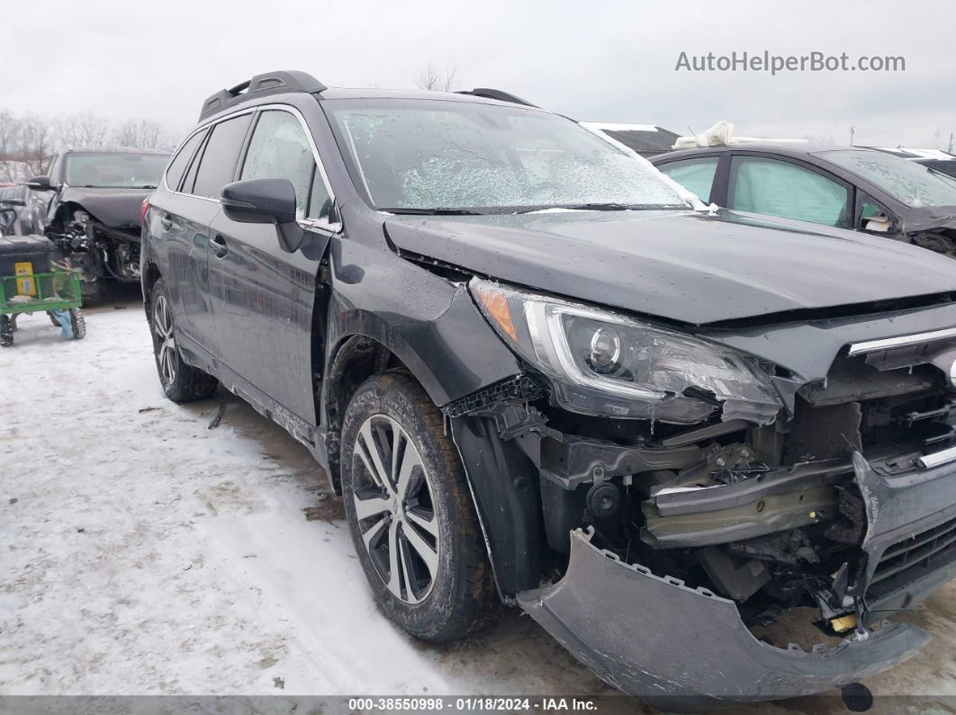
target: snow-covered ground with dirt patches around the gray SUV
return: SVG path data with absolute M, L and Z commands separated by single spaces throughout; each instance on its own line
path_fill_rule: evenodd
M 166 401 L 135 300 L 87 325 L 25 317 L 0 351 L 0 694 L 611 692 L 516 612 L 409 639 L 308 452 L 222 391 Z M 936 640 L 876 692 L 956 696 L 954 595 L 912 615 Z

